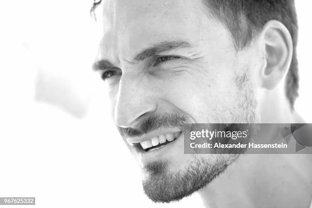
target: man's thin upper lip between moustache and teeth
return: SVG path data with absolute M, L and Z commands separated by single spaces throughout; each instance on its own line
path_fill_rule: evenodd
M 133 145 L 134 143 L 140 143 L 140 142 L 144 142 L 147 140 L 150 140 L 154 137 L 157 137 L 159 135 L 162 134 L 174 134 L 174 133 L 178 133 L 181 132 L 180 128 L 174 127 L 174 128 L 169 128 L 169 129 L 157 129 L 155 131 L 152 131 L 150 133 L 144 134 L 141 137 L 127 137 L 126 140 L 128 142 L 128 144 Z

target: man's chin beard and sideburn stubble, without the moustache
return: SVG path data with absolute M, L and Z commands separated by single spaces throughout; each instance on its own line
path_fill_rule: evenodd
M 246 77 L 245 73 L 242 76 Z M 234 123 L 257 123 L 256 101 L 252 86 L 248 79 L 238 83 L 241 88 L 238 97 L 244 97 L 238 103 L 240 113 L 233 119 Z M 243 87 L 242 87 L 243 86 Z M 205 187 L 218 175 L 226 170 L 228 165 L 239 158 L 239 153 L 229 154 L 193 154 L 187 167 L 177 171 L 169 171 L 169 160 L 160 160 L 145 166 L 147 177 L 143 180 L 145 194 L 154 202 L 172 202 L 180 200 Z M 207 157 L 208 156 L 208 157 Z

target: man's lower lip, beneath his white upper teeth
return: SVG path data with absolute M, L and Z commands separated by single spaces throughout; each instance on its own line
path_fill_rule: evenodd
M 143 149 L 139 149 L 138 156 L 141 161 L 144 162 L 149 162 L 155 159 L 159 159 L 163 154 L 165 154 L 167 151 L 170 151 L 170 148 L 172 148 L 174 145 L 178 143 L 179 140 L 183 139 L 183 132 L 180 134 L 178 138 L 176 138 L 173 142 L 170 142 L 164 146 L 161 146 L 156 149 L 151 149 L 149 151 L 144 151 Z

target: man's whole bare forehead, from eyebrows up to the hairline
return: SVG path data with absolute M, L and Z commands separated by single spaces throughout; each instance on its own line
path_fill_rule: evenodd
M 202 0 L 105 0 L 101 17 L 98 58 L 112 62 L 129 60 L 142 48 L 163 41 L 198 45 L 228 35 Z

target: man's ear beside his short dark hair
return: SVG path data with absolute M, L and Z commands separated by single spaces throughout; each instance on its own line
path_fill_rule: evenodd
M 274 89 L 287 74 L 293 57 L 293 40 L 288 29 L 279 21 L 270 20 L 259 36 L 264 58 L 260 71 L 262 87 Z

